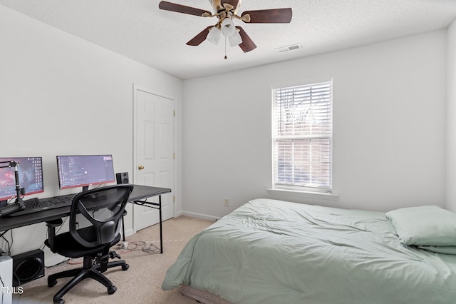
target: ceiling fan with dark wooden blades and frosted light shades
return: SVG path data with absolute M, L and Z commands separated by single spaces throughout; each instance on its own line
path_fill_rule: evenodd
M 167 1 L 160 1 L 158 7 L 165 11 L 175 11 L 182 14 L 190 14 L 202 17 L 217 17 L 219 19 L 214 26 L 207 26 L 197 36 L 187 42 L 189 46 L 198 46 L 204 40 L 218 44 L 221 36 L 229 40 L 230 46 L 238 46 L 247 53 L 257 48 L 254 41 L 242 29 L 241 26 L 234 26 L 233 19 L 239 19 L 245 23 L 255 24 L 281 24 L 290 23 L 293 12 L 291 8 L 286 9 L 262 9 L 256 11 L 244 11 L 240 16 L 237 10 L 241 0 L 209 0 L 212 4 L 214 14 L 204 9 L 175 4 Z M 225 56 L 226 59 L 226 56 Z

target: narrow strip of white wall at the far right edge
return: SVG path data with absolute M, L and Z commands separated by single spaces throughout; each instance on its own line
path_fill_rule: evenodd
M 456 21 L 447 36 L 447 208 L 456 212 Z

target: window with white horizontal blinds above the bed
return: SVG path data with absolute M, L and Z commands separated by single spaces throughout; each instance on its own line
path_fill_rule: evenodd
M 274 188 L 331 192 L 332 80 L 273 88 Z

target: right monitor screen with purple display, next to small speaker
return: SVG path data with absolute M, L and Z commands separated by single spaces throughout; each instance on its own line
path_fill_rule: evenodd
M 61 189 L 102 185 L 115 181 L 112 155 L 57 156 Z

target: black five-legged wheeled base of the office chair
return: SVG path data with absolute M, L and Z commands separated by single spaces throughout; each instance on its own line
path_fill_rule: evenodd
M 66 285 L 61 288 L 61 290 L 58 290 L 58 293 L 54 295 L 53 297 L 53 303 L 58 303 L 58 304 L 63 304 L 65 303 L 65 300 L 62 299 L 63 295 L 68 293 L 68 291 L 71 290 L 75 285 L 77 285 L 79 282 L 86 278 L 93 278 L 94 280 L 98 280 L 101 284 L 105 285 L 105 287 L 108 289 L 108 294 L 112 295 L 115 293 L 115 290 L 117 288 L 113 285 L 113 283 L 103 275 L 103 273 L 100 271 L 100 265 L 98 263 L 93 264 L 93 258 L 90 256 L 84 257 L 84 266 L 83 268 L 77 268 L 77 269 L 70 269 L 70 270 L 65 270 L 62 271 L 61 273 L 54 273 L 53 275 L 48 276 L 48 286 L 53 287 L 54 285 L 57 284 L 57 279 L 58 278 L 68 278 L 68 277 L 73 277 Z M 115 260 L 112 262 L 109 262 L 107 265 L 105 265 L 106 268 L 113 268 L 113 267 L 122 267 L 122 270 L 128 270 L 129 265 L 125 263 L 125 260 Z

